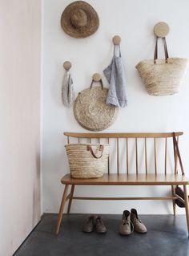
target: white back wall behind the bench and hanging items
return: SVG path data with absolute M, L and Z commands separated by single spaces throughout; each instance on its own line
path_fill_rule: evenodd
M 115 124 L 106 132 L 172 132 L 183 131 L 180 140 L 183 164 L 189 169 L 189 75 L 183 80 L 178 95 L 154 97 L 147 95 L 135 65 L 154 54 L 153 27 L 159 21 L 171 27 L 167 36 L 170 56 L 189 58 L 189 2 L 187 0 L 90 0 L 100 19 L 99 30 L 86 39 L 73 39 L 60 26 L 62 10 L 70 3 L 66 0 L 44 2 L 43 30 L 43 137 L 42 173 L 44 212 L 58 212 L 63 186 L 60 178 L 69 172 L 63 131 L 87 132 L 81 128 L 72 109 L 62 106 L 62 63 L 70 60 L 75 91 L 89 87 L 91 75 L 103 69 L 111 61 L 114 35 L 122 37 L 122 53 L 127 71 L 128 107 L 121 109 Z M 106 79 L 103 81 L 107 84 Z M 189 174 L 189 173 L 187 173 Z M 84 190 L 85 189 L 85 190 Z M 170 188 L 123 188 L 96 187 L 76 189 L 76 193 L 111 196 L 155 195 L 170 193 Z M 123 209 L 139 208 L 139 213 L 171 213 L 171 203 L 162 201 L 75 201 L 72 212 L 76 213 L 121 213 Z M 166 207 L 165 207 L 166 206 Z

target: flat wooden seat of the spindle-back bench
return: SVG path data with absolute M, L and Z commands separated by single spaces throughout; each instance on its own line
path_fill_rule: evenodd
M 75 179 L 66 174 L 62 177 L 65 185 L 189 185 L 189 178 L 175 174 L 104 174 L 94 179 Z

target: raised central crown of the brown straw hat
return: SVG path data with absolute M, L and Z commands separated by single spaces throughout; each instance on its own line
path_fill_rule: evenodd
M 87 25 L 87 15 L 82 9 L 74 10 L 70 17 L 71 23 L 75 28 L 82 28 Z

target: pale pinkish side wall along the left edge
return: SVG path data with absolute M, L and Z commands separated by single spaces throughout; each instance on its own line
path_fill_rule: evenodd
M 0 256 L 40 220 L 41 1 L 0 1 Z

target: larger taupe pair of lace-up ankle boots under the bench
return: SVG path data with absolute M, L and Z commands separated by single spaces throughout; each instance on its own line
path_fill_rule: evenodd
M 122 223 L 119 226 L 119 234 L 128 235 L 134 231 L 144 234 L 147 233 L 147 228 L 139 219 L 136 209 L 131 209 L 131 213 L 124 210 Z

